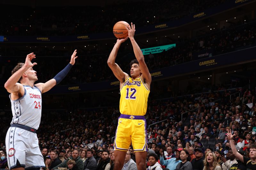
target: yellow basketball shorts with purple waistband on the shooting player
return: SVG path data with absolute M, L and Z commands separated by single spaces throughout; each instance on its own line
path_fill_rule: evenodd
M 144 116 L 123 115 L 118 118 L 114 150 L 127 151 L 131 142 L 134 152 L 148 151 Z

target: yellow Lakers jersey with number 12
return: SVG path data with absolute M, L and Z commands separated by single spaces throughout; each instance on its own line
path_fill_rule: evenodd
M 126 78 L 120 89 L 120 113 L 135 116 L 145 115 L 149 92 L 141 77 L 133 81 L 131 77 Z

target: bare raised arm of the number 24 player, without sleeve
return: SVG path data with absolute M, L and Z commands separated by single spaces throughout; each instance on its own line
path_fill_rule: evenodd
M 16 71 L 4 84 L 4 88 L 10 92 L 20 92 L 20 90 L 24 90 L 22 85 L 18 83 L 20 77 L 23 75 L 23 73 L 28 70 L 30 67 L 33 67 L 37 63 L 31 63 L 31 60 L 35 57 L 34 53 L 30 53 L 27 55 L 24 65 Z

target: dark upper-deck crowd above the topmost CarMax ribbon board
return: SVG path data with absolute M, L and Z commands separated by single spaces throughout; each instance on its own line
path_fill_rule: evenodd
M 225 2 L 227 0 L 115 2 L 104 7 L 47 7 L 47 12 L 46 7 L 3 5 L 5 15 L 1 18 L 0 34 L 49 36 L 111 32 L 120 20 L 136 21 L 141 27 L 176 20 Z

